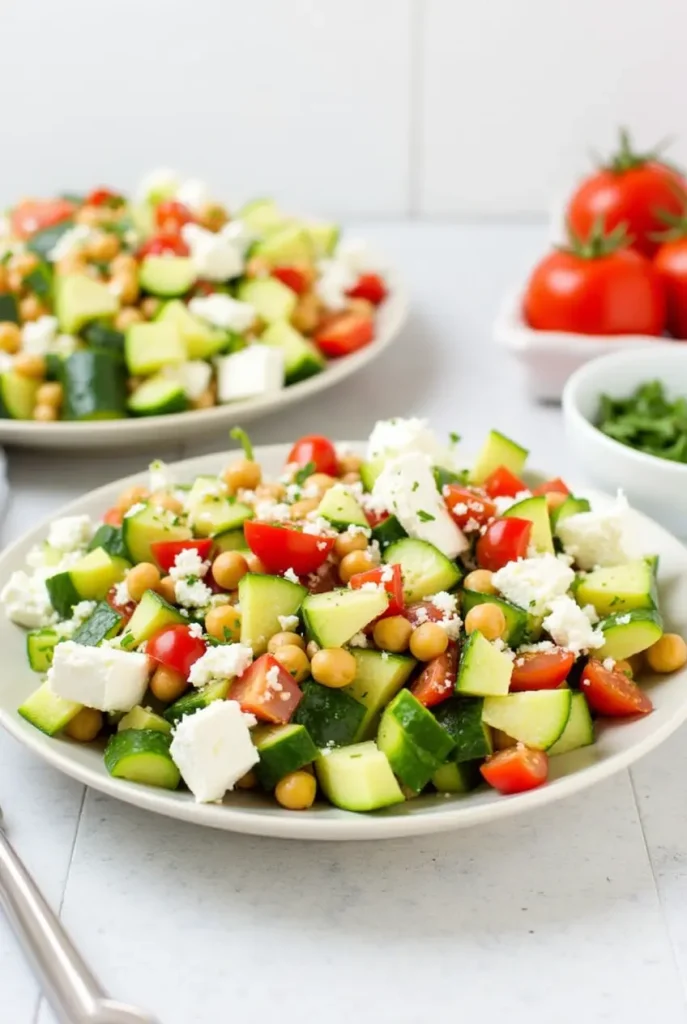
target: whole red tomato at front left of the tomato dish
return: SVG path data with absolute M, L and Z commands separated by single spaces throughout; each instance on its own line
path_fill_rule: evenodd
M 662 334 L 665 294 L 658 271 L 627 248 L 621 229 L 598 227 L 587 242 L 571 233 L 534 267 L 524 315 L 538 331 L 574 334 Z

